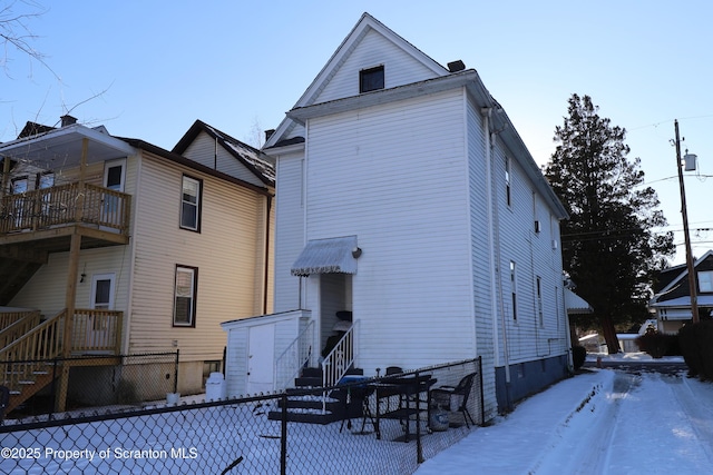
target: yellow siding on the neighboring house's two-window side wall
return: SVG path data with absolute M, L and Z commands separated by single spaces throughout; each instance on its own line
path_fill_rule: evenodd
M 201 232 L 178 226 L 184 172 L 203 180 Z M 138 196 L 129 352 L 178 348 L 182 362 L 221 359 L 225 334 L 219 323 L 263 310 L 263 281 L 255 270 L 263 266 L 264 225 L 257 217 L 265 198 L 149 154 Z M 195 328 L 173 327 L 177 264 L 198 268 Z M 231 291 L 225 281 L 235 281 Z

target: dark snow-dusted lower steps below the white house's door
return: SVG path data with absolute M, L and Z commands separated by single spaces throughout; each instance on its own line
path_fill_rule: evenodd
M 363 369 L 350 369 L 348 375 L 364 374 Z M 361 404 L 346 404 L 346 390 L 333 389 L 324 392 L 322 387 L 322 369 L 304 368 L 295 378 L 294 388 L 287 389 L 287 422 L 307 424 L 330 424 L 362 415 Z M 282 420 L 283 400 L 277 403 L 277 409 L 267 414 L 270 420 Z

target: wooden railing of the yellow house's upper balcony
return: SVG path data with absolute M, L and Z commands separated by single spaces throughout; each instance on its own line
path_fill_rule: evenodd
M 129 207 L 130 195 L 91 184 L 80 187 L 74 182 L 7 195 L 0 201 L 0 235 L 76 222 L 127 234 Z

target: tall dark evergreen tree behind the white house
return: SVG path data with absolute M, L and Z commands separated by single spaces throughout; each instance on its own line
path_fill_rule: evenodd
M 599 117 L 588 96 L 573 95 L 568 103 L 545 176 L 569 212 L 561 224 L 565 271 L 616 353 L 615 325 L 646 318 L 651 283 L 674 251 L 673 235 L 652 230 L 666 219 L 656 191 L 643 186 L 641 160 L 627 158 L 626 130 Z

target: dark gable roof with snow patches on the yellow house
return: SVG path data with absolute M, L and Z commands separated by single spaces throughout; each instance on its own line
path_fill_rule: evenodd
M 196 119 L 196 121 L 193 122 L 193 126 L 191 126 L 188 131 L 178 140 L 172 152 L 183 155 L 201 132 L 205 132 L 216 139 L 221 147 L 260 178 L 262 182 L 268 186 L 275 185 L 275 167 L 272 157 L 228 136 L 213 126 L 208 126 L 202 120 Z

